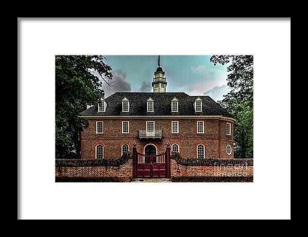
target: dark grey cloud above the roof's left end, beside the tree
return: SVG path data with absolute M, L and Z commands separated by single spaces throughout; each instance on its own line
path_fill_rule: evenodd
M 114 85 L 110 88 L 103 88 L 105 90 L 105 97 L 115 93 L 115 92 L 130 92 L 131 86 L 127 81 L 126 72 L 121 69 L 112 71 Z M 104 84 L 103 84 L 104 85 Z

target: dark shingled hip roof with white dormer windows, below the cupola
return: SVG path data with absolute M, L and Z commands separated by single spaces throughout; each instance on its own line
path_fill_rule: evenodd
M 122 112 L 124 97 L 129 100 L 129 112 Z M 154 112 L 147 112 L 146 101 L 149 97 L 154 101 Z M 171 112 L 171 100 L 174 97 L 179 100 L 179 112 Z M 202 112 L 195 112 L 194 103 L 197 97 L 197 95 L 190 96 L 184 92 L 116 92 L 105 98 L 107 103 L 105 112 L 98 112 L 97 105 L 94 105 L 81 112 L 81 115 L 223 115 L 233 117 L 207 95 L 199 96 L 202 99 Z

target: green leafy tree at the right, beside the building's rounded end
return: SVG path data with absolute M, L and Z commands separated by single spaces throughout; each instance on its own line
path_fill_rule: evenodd
M 227 82 L 231 91 L 218 103 L 236 118 L 234 126 L 235 157 L 253 157 L 253 55 L 213 55 L 210 62 L 231 63 Z

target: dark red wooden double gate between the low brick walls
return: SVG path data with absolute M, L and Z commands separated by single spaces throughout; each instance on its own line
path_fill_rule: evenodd
M 133 144 L 133 176 L 136 179 L 170 179 L 170 148 L 158 155 L 145 155 L 137 152 Z

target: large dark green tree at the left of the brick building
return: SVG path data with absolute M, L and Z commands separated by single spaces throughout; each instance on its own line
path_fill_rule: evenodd
M 102 81 L 114 83 L 102 55 L 55 56 L 55 157 L 80 157 L 80 131 L 88 126 L 79 117 L 86 104 L 104 96 Z

